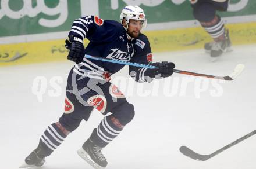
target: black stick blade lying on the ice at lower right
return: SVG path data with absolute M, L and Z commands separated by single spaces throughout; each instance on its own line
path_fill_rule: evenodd
M 183 153 L 183 155 L 190 157 L 191 159 L 197 160 L 197 161 L 206 161 L 209 158 L 213 157 L 214 155 L 200 155 L 193 150 L 187 148 L 187 146 L 181 146 L 180 152 Z

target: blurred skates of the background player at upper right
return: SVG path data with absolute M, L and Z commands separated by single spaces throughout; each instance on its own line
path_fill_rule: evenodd
M 229 30 L 225 30 L 225 39 L 223 41 L 214 41 L 205 43 L 204 49 L 210 53 L 212 61 L 216 60 L 216 57 L 221 56 L 223 52 L 232 51 L 232 43 L 229 38 Z

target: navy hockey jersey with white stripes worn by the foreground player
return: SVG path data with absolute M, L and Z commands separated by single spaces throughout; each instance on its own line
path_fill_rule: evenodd
M 80 39 L 87 38 L 88 43 L 85 53 L 91 56 L 115 58 L 134 63 L 149 64 L 152 61 L 150 43 L 147 36 L 140 34 L 138 38 L 129 40 L 123 25 L 114 20 L 102 20 L 97 16 L 86 16 L 74 20 L 69 36 Z M 101 78 L 104 72 L 115 74 L 124 65 L 106 63 L 104 61 L 83 61 L 74 67 L 79 75 L 90 78 Z M 90 74 L 86 72 L 90 71 Z M 147 68 L 129 66 L 129 75 L 136 82 L 151 82 L 152 79 L 145 76 Z M 93 73 L 92 73 L 93 72 Z

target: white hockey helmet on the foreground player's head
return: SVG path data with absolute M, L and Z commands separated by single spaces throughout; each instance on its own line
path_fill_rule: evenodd
M 125 22 L 126 22 L 127 25 L 129 23 L 130 19 L 143 21 L 142 29 L 145 28 L 146 25 L 147 25 L 147 20 L 146 20 L 145 13 L 144 13 L 143 9 L 141 9 L 138 6 L 131 6 L 131 5 L 125 6 L 125 8 L 123 8 L 123 10 L 120 14 L 121 23 L 122 23 L 124 18 L 125 18 Z

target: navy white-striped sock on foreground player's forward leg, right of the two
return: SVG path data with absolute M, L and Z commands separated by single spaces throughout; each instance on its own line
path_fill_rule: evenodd
M 105 116 L 90 136 L 95 145 L 105 147 L 122 131 L 124 126 L 112 115 Z

